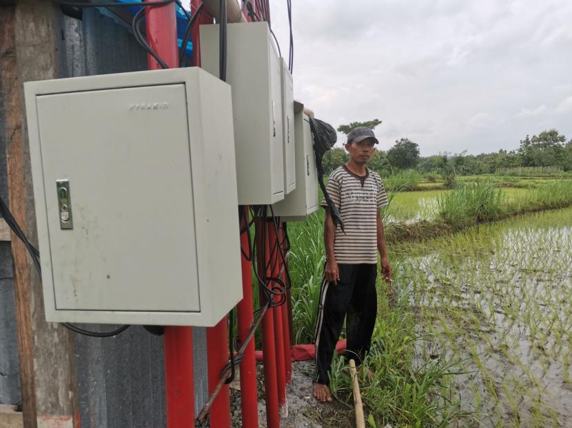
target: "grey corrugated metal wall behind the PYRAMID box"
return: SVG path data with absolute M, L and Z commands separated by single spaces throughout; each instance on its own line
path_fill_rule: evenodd
M 63 17 L 61 36 L 64 47 L 61 77 L 147 68 L 145 52 L 130 34 L 128 25 L 106 10 L 85 9 L 81 20 Z M 0 114 L 0 121 L 1 117 Z M 3 147 L 1 149 L 3 153 Z M 2 158 L 0 170 L 5 177 L 6 168 L 1 162 Z M 5 191 L 1 187 L 5 183 L 1 177 L 0 174 L 0 192 Z M 0 403 L 16 403 L 19 378 L 9 244 L 0 244 L 0 258 L 0 372 L 15 372 L 10 385 L 0 377 Z M 10 269 L 5 268 L 5 261 Z M 6 284 L 4 277 L 7 277 Z M 85 327 L 102 331 L 113 328 L 110 325 Z M 4 343 L 10 345 L 6 347 Z M 111 339 L 76 335 L 76 358 L 82 428 L 165 426 L 161 336 L 153 336 L 140 326 Z M 207 399 L 206 360 L 205 329 L 194 328 L 196 409 L 200 409 Z

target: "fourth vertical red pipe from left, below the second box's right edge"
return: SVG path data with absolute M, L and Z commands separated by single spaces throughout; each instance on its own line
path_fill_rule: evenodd
M 258 275 L 266 277 L 269 272 L 265 266 L 269 262 L 268 234 L 265 233 L 266 219 L 257 220 L 256 255 L 258 257 Z M 260 293 L 261 305 L 266 303 L 263 292 Z M 268 428 L 280 428 L 278 413 L 278 379 L 276 374 L 276 343 L 274 343 L 274 311 L 267 310 L 262 321 L 262 347 L 264 360 L 264 389 L 266 395 L 266 425 Z

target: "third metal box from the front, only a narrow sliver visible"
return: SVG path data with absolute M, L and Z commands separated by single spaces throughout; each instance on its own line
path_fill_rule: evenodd
M 294 82 L 284 58 L 282 63 L 282 128 L 284 134 L 284 191 L 286 194 L 296 189 L 296 164 L 294 152 Z

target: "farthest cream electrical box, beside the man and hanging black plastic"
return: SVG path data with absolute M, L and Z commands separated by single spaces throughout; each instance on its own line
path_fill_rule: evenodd
M 283 222 L 306 220 L 307 215 L 318 209 L 318 173 L 314 156 L 308 116 L 303 105 L 296 103 L 294 114 L 294 141 L 296 142 L 296 189 L 284 200 L 272 206 L 274 215 Z

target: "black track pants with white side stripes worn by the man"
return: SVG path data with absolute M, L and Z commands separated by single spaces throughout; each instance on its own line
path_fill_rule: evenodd
M 340 281 L 322 281 L 316 323 L 314 382 L 329 384 L 328 371 L 346 319 L 347 358 L 360 364 L 369 351 L 378 308 L 377 264 L 338 264 Z

